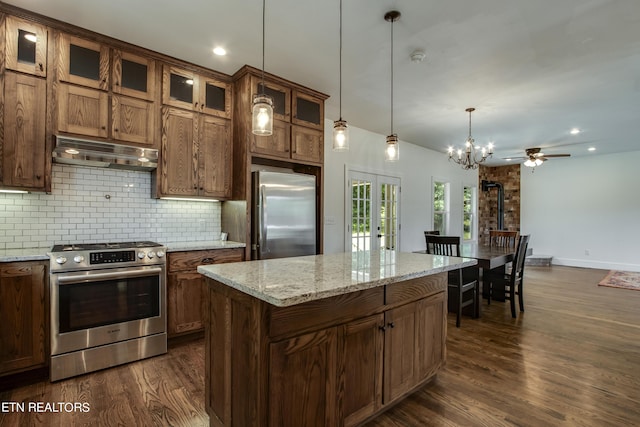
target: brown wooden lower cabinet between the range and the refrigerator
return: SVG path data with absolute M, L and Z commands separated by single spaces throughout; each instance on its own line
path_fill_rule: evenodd
M 167 334 L 169 338 L 204 329 L 203 283 L 199 265 L 244 260 L 244 248 L 170 252 L 167 264 Z

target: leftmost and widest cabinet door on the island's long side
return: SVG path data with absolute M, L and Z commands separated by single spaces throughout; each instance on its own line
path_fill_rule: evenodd
M 337 328 L 270 345 L 269 426 L 336 426 Z

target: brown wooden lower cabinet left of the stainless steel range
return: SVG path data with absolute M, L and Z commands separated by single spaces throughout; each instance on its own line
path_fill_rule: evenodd
M 45 366 L 45 262 L 0 264 L 0 375 Z

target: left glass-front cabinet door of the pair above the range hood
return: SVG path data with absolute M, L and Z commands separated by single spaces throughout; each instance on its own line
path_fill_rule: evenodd
M 61 34 L 58 60 L 61 81 L 108 90 L 108 46 L 69 34 Z

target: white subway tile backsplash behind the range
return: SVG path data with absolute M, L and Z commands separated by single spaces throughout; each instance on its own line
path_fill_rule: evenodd
M 220 203 L 151 198 L 151 174 L 53 164 L 51 194 L 0 193 L 0 249 L 218 240 Z

